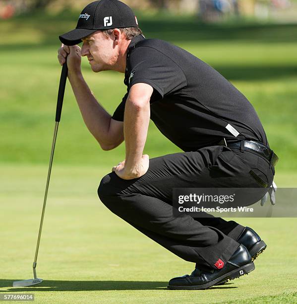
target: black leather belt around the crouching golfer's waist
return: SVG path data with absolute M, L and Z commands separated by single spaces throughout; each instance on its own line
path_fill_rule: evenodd
M 226 142 L 225 142 L 226 143 Z M 228 148 L 237 148 L 246 151 L 253 151 L 256 154 L 266 158 L 269 161 L 269 164 L 273 165 L 275 167 L 277 161 L 279 160 L 278 156 L 267 146 L 254 142 L 254 141 L 239 141 L 235 143 L 228 143 L 227 142 L 227 147 Z

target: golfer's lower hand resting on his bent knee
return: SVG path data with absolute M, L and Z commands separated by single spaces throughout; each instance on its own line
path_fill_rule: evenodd
M 113 167 L 115 172 L 122 179 L 134 179 L 144 175 L 149 168 L 149 156 L 147 154 L 142 155 L 140 162 L 134 168 L 125 167 L 125 161 L 120 162 L 117 166 Z

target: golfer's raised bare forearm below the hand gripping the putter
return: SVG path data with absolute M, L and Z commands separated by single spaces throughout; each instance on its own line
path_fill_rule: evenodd
M 109 138 L 111 115 L 98 103 L 82 74 L 68 75 L 83 120 L 101 147 L 112 144 Z

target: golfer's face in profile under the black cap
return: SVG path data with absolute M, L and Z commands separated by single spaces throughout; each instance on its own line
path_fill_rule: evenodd
M 112 70 L 117 64 L 119 47 L 114 44 L 113 35 L 108 38 L 102 31 L 82 39 L 81 56 L 86 56 L 94 72 Z

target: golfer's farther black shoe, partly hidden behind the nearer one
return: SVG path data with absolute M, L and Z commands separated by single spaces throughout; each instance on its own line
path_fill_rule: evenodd
M 249 227 L 244 228 L 236 241 L 246 247 L 252 261 L 254 261 L 267 247 L 265 242 L 261 240 L 261 237 Z

